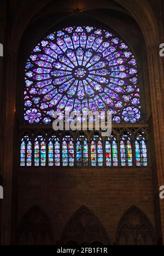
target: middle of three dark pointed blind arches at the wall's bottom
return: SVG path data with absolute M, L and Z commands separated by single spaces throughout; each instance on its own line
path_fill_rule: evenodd
M 81 207 L 66 225 L 61 245 L 110 245 L 106 230 L 87 207 Z

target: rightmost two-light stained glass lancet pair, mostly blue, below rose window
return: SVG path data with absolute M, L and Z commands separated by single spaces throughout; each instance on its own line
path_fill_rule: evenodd
M 147 142 L 143 132 L 137 135 L 135 146 L 137 166 L 148 166 Z

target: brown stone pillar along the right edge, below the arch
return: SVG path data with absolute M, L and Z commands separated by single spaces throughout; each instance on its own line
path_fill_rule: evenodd
M 149 68 L 151 108 L 153 113 L 153 132 L 155 140 L 155 157 L 152 157 L 155 216 L 157 218 L 157 234 L 160 236 L 161 225 L 162 237 L 164 242 L 164 200 L 159 199 L 159 188 L 161 185 L 164 185 L 164 58 L 160 57 L 159 45 L 154 45 L 148 48 L 147 55 Z M 161 213 L 161 219 L 159 213 Z

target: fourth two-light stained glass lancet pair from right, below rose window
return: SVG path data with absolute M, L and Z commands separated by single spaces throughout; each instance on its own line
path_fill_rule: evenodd
M 91 139 L 91 166 L 103 166 L 103 145 L 98 135 Z

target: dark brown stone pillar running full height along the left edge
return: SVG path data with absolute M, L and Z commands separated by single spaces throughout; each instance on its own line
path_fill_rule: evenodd
M 16 96 L 16 74 L 17 74 L 17 53 L 13 53 L 13 42 L 10 39 L 10 30 L 8 26 L 9 19 L 7 13 L 9 11 L 8 1 L 0 1 L 0 43 L 4 45 L 3 63 L 0 67 L 0 165 L 2 168 L 4 199 L 2 205 L 2 228 L 1 228 L 1 244 L 10 245 L 16 219 L 14 207 L 16 207 L 16 200 L 13 193 L 13 181 L 15 180 L 13 170 L 14 162 L 13 153 L 17 150 L 14 147 L 14 132 L 15 132 L 15 96 Z M 8 28 L 8 29 L 7 29 Z M 14 43 L 14 42 L 13 42 Z M 15 184 L 16 185 L 16 184 Z M 16 187 L 16 186 L 15 186 Z M 13 228 L 14 226 L 14 228 Z M 14 230 L 14 231 L 12 231 Z M 16 235 L 16 232 L 15 232 Z

